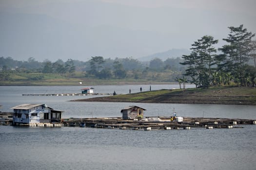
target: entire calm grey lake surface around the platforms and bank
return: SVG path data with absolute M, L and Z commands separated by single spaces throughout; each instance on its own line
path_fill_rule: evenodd
M 125 94 L 149 85 L 94 86 L 95 93 Z M 83 86 L 0 86 L 0 109 L 45 103 L 64 111 L 63 118 L 121 117 L 128 105 L 147 109 L 145 116 L 256 119 L 256 106 L 67 102 L 99 96 L 22 96 L 80 93 Z M 151 85 L 152 90 L 178 85 Z M 187 87 L 191 87 L 187 85 Z M 133 131 L 79 127 L 0 126 L 0 170 L 255 170 L 256 125 L 233 129 Z

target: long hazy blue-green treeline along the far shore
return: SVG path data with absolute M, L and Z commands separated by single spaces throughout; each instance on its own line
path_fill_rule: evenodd
M 11 57 L 0 57 L 0 68 L 2 68 L 2 71 L 9 73 L 15 70 L 19 73 L 56 73 L 72 76 L 74 71 L 83 71 L 87 77 L 103 79 L 131 77 L 139 79 L 149 72 L 175 72 L 175 76 L 177 76 L 177 74 L 181 74 L 181 71 L 185 70 L 185 66 L 179 65 L 179 62 L 182 61 L 179 57 L 168 58 L 165 61 L 155 58 L 148 62 L 140 62 L 132 57 L 104 59 L 101 56 L 95 56 L 86 62 L 72 59 L 63 62 L 59 59 L 56 62 L 45 60 L 40 63 L 32 57 L 27 61 L 16 61 Z M 173 77 L 175 78 L 175 76 Z

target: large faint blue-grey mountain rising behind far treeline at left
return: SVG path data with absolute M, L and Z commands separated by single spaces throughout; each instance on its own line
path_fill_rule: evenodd
M 165 39 L 153 31 L 108 25 L 89 27 L 46 15 L 0 15 L 0 55 L 18 60 L 27 60 L 29 57 L 40 61 L 69 58 L 87 61 L 91 56 L 138 58 L 144 55 L 143 51 L 158 51 L 152 48 L 155 46 L 152 39 L 161 42 Z

